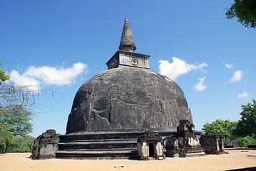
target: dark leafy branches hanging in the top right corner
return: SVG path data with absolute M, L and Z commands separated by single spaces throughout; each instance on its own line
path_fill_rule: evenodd
M 235 0 L 230 9 L 226 12 L 227 19 L 238 18 L 238 22 L 247 28 L 256 27 L 256 1 Z

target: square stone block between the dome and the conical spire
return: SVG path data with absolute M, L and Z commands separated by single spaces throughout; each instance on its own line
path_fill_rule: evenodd
M 106 63 L 108 69 L 118 68 L 118 66 L 130 66 L 136 68 L 149 68 L 150 56 L 141 53 L 128 51 L 117 51 L 115 55 Z

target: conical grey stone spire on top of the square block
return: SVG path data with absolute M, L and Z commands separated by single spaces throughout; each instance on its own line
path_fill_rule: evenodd
M 123 33 L 120 41 L 119 50 L 128 52 L 133 52 L 136 50 L 133 33 L 131 32 L 128 19 L 126 19 L 125 24 L 123 25 Z

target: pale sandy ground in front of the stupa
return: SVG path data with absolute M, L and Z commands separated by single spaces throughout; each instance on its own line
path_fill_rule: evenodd
M 229 154 L 208 155 L 205 157 L 170 158 L 165 160 L 31 160 L 31 153 L 0 154 L 0 170 L 234 170 L 256 167 L 256 150 L 226 150 Z M 249 155 L 249 156 L 248 156 Z M 124 165 L 124 167 L 115 167 Z

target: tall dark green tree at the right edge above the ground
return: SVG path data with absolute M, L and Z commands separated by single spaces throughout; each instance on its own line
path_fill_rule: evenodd
M 238 120 L 237 128 L 234 130 L 235 135 L 240 137 L 256 136 L 256 100 L 252 100 L 252 104 L 241 105 L 242 115 Z

